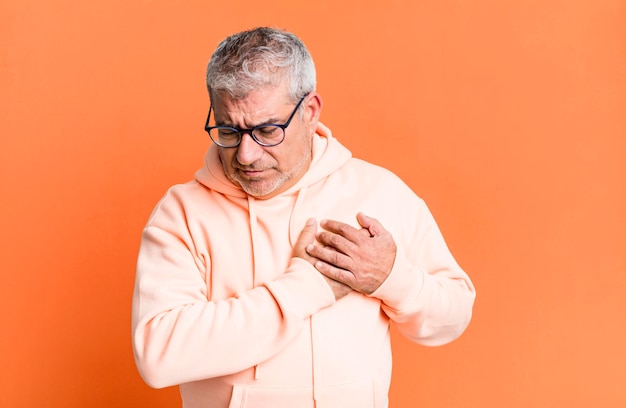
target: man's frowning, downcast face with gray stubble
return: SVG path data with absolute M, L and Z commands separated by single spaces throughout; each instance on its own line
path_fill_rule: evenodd
M 256 198 L 271 198 L 293 186 L 311 164 L 313 134 L 321 100 L 312 92 L 302 103 L 304 112 L 296 112 L 285 129 L 285 140 L 276 146 L 263 147 L 244 134 L 237 147 L 219 147 L 224 173 Z M 266 85 L 243 99 L 233 99 L 225 92 L 214 95 L 213 111 L 219 125 L 252 128 L 260 124 L 283 124 L 295 108 L 287 86 Z

